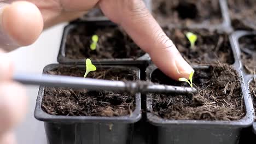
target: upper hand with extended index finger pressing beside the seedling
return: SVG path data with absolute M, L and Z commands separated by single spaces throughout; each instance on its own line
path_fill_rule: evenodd
M 27 0 L 2 3 L 0 47 L 8 51 L 33 43 L 42 32 L 62 21 L 73 20 L 100 6 L 103 13 L 118 23 L 135 43 L 148 52 L 166 75 L 178 80 L 189 77 L 193 69 L 162 31 L 142 0 Z M 4 42 L 4 43 L 3 43 Z M 5 45 L 3 45 L 5 44 Z

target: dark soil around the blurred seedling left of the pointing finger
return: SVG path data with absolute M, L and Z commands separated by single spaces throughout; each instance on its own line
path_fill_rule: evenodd
M 90 45 L 94 34 L 98 35 L 99 40 L 96 50 L 92 51 Z M 68 34 L 66 41 L 66 56 L 72 59 L 136 59 L 144 54 L 145 52 L 119 27 L 80 25 Z

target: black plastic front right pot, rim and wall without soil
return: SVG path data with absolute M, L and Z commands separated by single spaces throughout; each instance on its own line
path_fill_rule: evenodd
M 150 81 L 152 73 L 157 68 L 150 65 L 147 68 L 147 79 Z M 203 66 L 194 69 L 206 69 Z M 242 77 L 241 90 L 246 109 L 246 116 L 238 121 L 194 121 L 194 120 L 168 120 L 160 118 L 152 113 L 152 94 L 147 95 L 147 119 L 154 125 L 156 134 L 153 135 L 153 143 L 158 144 L 204 144 L 204 143 L 238 143 L 242 128 L 249 127 L 253 122 L 251 99 L 249 99 L 242 72 L 235 67 Z

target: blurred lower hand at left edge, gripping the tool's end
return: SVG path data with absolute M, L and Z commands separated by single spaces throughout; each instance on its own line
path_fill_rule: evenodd
M 0 144 L 15 143 L 13 128 L 25 115 L 25 89 L 11 81 L 13 65 L 0 50 Z

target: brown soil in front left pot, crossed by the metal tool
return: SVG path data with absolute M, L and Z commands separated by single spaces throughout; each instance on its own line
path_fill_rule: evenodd
M 83 77 L 84 69 L 58 67 L 51 75 Z M 136 72 L 120 68 L 98 68 L 89 78 L 105 80 L 136 80 Z M 135 97 L 129 93 L 88 91 L 86 89 L 45 88 L 42 109 L 50 115 L 62 116 L 125 116 L 135 110 Z

